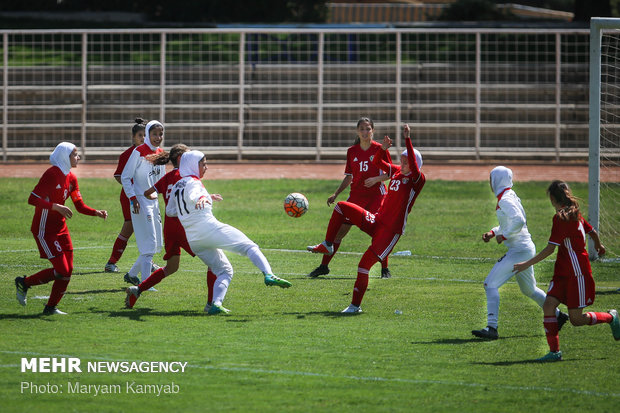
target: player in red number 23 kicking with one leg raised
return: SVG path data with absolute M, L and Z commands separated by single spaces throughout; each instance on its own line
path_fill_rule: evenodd
M 353 225 L 358 226 L 372 237 L 372 243 L 358 265 L 351 305 L 345 308 L 343 313 L 362 312 L 360 305 L 368 287 L 370 268 L 392 252 L 405 232 L 407 216 L 426 182 L 426 177 L 420 171 L 422 155 L 413 149 L 409 133 L 409 125 L 405 125 L 404 136 L 407 150 L 401 155 L 400 166 L 385 162 L 383 154 L 379 152 L 373 159 L 373 163 L 391 178 L 387 196 L 379 211 L 375 214 L 350 202 L 338 202 L 329 220 L 325 241 L 308 247 L 308 250 L 314 253 L 332 254 L 333 242 L 345 219 L 349 219 Z M 387 151 L 391 145 L 392 140 L 386 136 L 380 152 Z

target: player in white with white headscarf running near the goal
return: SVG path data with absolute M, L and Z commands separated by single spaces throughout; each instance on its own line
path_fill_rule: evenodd
M 497 333 L 499 287 L 515 275 L 513 267 L 516 263 L 527 261 L 536 255 L 536 247 L 527 229 L 525 210 L 521 205 L 521 200 L 512 190 L 512 171 L 504 166 L 494 168 L 491 171 L 490 183 L 491 189 L 497 196 L 495 212 L 499 226 L 485 232 L 482 240 L 489 242 L 495 237 L 498 244 L 503 242 L 508 247 L 508 252 L 497 261 L 484 280 L 484 290 L 487 296 L 487 327 L 482 330 L 473 330 L 472 334 L 476 337 L 496 340 L 499 338 Z M 547 296 L 536 286 L 533 267 L 517 273 L 516 278 L 521 292 L 542 308 Z M 563 325 L 566 320 L 568 320 L 568 315 L 558 311 L 558 322 Z

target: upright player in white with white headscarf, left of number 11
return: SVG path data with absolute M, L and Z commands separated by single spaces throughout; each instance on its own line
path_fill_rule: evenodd
M 144 131 L 144 143 L 131 153 L 121 182 L 127 198 L 131 203 L 131 222 L 140 256 L 125 274 L 125 281 L 138 285 L 138 272 L 144 281 L 152 271 L 153 256 L 161 251 L 162 228 L 157 196 L 145 197 L 144 191 L 155 185 L 164 176 L 164 165 L 153 165 L 146 157 L 163 152 L 159 147 L 164 139 L 164 125 L 156 120 L 147 123 Z

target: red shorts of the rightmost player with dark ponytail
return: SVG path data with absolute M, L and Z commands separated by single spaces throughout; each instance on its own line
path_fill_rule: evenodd
M 591 274 L 554 275 L 547 295 L 557 298 L 568 309 L 587 307 L 594 303 L 596 296 L 594 278 Z

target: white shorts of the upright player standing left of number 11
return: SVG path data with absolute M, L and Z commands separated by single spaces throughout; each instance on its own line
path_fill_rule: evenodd
M 162 229 L 159 200 L 136 196 L 140 202 L 140 213 L 131 213 L 131 223 L 140 254 L 157 254 L 161 251 Z

